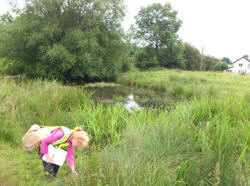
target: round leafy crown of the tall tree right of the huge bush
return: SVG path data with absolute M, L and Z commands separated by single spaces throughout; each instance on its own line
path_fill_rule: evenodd
M 169 41 L 175 40 L 175 34 L 181 26 L 181 21 L 177 20 L 176 15 L 177 12 L 173 11 L 168 3 L 141 8 L 136 16 L 137 38 L 156 49 L 167 46 Z

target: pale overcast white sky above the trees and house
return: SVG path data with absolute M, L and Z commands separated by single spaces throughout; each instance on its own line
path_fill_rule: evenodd
M 17 0 L 21 1 L 21 0 Z M 232 61 L 250 56 L 250 1 L 249 0 L 124 0 L 126 17 L 122 26 L 127 30 L 141 7 L 152 3 L 170 3 L 182 21 L 180 39 L 204 54 Z M 9 9 L 0 0 L 0 14 Z

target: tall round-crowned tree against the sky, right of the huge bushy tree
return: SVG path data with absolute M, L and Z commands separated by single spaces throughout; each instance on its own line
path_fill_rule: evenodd
M 181 21 L 176 15 L 177 12 L 172 10 L 169 3 L 166 3 L 142 8 L 135 17 L 137 25 L 135 38 L 139 39 L 141 46 L 146 46 L 146 50 L 154 49 L 148 59 L 149 62 L 156 59 L 159 65 L 164 67 L 184 67 L 183 45 L 177 36 Z

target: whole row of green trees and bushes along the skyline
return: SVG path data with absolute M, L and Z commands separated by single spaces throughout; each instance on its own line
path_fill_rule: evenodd
M 0 71 L 61 81 L 113 80 L 137 67 L 200 70 L 169 3 L 141 8 L 125 33 L 123 0 L 26 0 L 0 18 Z M 13 17 L 13 12 L 15 17 Z M 202 70 L 218 59 L 203 56 Z

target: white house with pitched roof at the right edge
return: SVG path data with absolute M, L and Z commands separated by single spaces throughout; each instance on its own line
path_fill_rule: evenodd
M 250 59 L 248 59 L 248 55 L 233 62 L 233 67 L 226 69 L 224 72 L 250 75 Z

